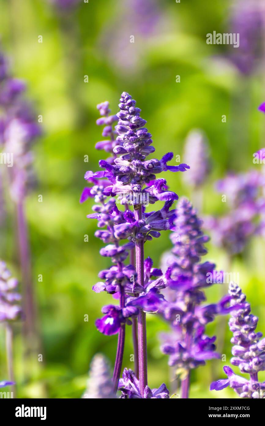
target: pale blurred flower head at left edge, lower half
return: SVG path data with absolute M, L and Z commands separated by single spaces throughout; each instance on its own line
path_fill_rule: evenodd
M 16 320 L 21 314 L 17 285 L 18 281 L 12 278 L 6 263 L 0 261 L 0 321 Z

